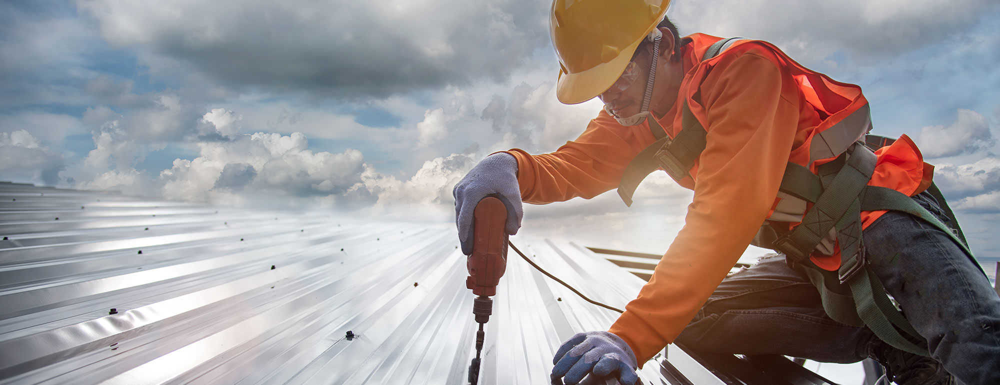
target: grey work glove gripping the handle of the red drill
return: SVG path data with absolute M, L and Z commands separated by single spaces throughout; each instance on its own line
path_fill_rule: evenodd
M 472 213 L 476 204 L 487 196 L 494 196 L 507 207 L 507 234 L 517 234 L 521 228 L 521 188 L 517 185 L 517 159 L 513 155 L 498 152 L 487 156 L 469 170 L 469 173 L 455 185 L 455 224 L 458 225 L 458 240 L 462 242 L 462 253 L 472 254 Z

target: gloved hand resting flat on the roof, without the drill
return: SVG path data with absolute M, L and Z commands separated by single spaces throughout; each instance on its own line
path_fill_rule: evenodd
M 552 359 L 552 378 L 563 377 L 566 384 L 579 383 L 589 374 L 615 377 L 623 385 L 639 380 L 638 366 L 632 348 L 618 336 L 604 331 L 576 333 L 563 342 Z

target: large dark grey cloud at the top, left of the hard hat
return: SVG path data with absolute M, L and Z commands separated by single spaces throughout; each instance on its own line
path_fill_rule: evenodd
M 548 42 L 542 1 L 77 4 L 151 71 L 163 57 L 237 89 L 346 98 L 506 79 Z

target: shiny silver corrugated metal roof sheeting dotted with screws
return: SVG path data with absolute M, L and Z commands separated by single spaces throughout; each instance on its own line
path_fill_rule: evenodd
M 0 183 L 0 235 L 2 384 L 465 383 L 477 324 L 449 225 Z M 513 241 L 612 306 L 643 284 L 573 243 Z M 561 341 L 616 317 L 511 253 L 480 383 L 545 383 Z M 681 383 L 671 366 L 720 383 L 669 355 L 645 383 Z

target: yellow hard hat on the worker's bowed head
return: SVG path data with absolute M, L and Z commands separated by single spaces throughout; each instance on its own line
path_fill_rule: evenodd
M 670 0 L 554 0 L 549 18 L 559 56 L 556 96 L 583 103 L 611 87 Z

